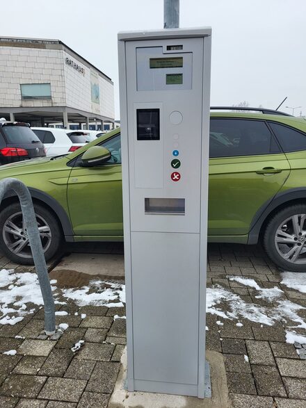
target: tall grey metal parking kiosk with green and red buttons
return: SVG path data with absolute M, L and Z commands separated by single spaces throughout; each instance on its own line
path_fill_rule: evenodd
M 128 389 L 204 398 L 211 28 L 118 47 Z

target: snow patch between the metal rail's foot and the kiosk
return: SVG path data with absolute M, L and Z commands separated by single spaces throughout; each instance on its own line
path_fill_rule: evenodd
M 93 280 L 89 286 L 63 289 L 63 296 L 74 300 L 79 306 L 122 307 L 125 303 L 125 285 Z

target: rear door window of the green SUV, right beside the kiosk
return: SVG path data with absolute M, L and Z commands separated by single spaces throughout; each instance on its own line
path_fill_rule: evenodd
M 264 121 L 211 118 L 209 157 L 279 153 L 280 147 Z

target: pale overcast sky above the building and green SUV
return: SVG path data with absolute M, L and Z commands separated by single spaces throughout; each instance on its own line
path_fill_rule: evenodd
M 163 28 L 163 0 L 10 0 L 1 12 L 0 35 L 62 40 L 110 76 L 116 119 L 118 31 Z M 305 15 L 305 0 L 180 0 L 181 27 L 213 29 L 211 105 L 288 97 L 305 115 Z

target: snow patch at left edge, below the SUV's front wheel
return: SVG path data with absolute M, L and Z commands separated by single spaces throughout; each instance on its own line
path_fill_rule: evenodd
M 56 288 L 52 286 L 54 291 Z M 33 313 L 27 304 L 43 305 L 38 277 L 32 272 L 0 270 L 0 325 L 15 325 Z

